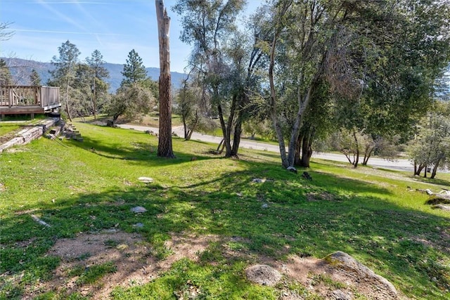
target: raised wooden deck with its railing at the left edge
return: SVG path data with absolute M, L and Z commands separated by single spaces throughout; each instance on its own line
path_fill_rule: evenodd
M 0 115 L 40 114 L 60 107 L 55 86 L 0 86 Z

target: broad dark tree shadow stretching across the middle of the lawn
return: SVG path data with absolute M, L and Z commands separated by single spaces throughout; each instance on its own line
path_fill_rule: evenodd
M 128 153 L 119 150 L 118 155 Z M 442 263 L 450 255 L 449 238 L 444 238 L 449 218 L 398 207 L 388 200 L 393 196 L 389 190 L 364 181 L 314 171 L 314 181 L 306 181 L 277 164 L 240 164 L 245 171 L 186 185 L 139 184 L 39 204 L 32 214 L 51 224 L 49 228 L 27 212 L 6 216 L 1 224 L 2 273 L 25 272 L 30 282 L 48 280 L 58 265 L 46 256 L 53 242 L 117 228 L 141 233 L 161 252 L 164 240 L 174 233 L 242 237 L 241 251 L 273 259 L 288 254 L 323 257 L 341 250 L 404 292 L 414 287 L 423 292 L 418 296 L 427 296 L 449 288 L 449 268 Z M 131 212 L 138 205 L 147 211 Z M 136 228 L 136 223 L 143 227 Z

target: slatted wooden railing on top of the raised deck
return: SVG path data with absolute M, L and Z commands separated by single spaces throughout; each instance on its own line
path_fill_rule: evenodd
M 58 105 L 59 88 L 55 86 L 0 86 L 0 106 Z

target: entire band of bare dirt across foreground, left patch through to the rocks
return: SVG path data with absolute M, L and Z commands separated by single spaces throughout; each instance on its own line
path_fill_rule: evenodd
M 225 257 L 230 259 L 240 257 L 278 270 L 284 275 L 281 283 L 276 285 L 276 288 L 281 289 L 283 300 L 304 299 L 304 295 L 290 289 L 289 282 L 297 282 L 309 292 L 319 294 L 324 299 L 341 299 L 336 298 L 336 295 L 347 295 L 349 299 L 354 299 L 358 295 L 364 295 L 368 299 L 395 299 L 386 292 L 385 282 L 380 281 L 378 275 L 367 275 L 371 274 L 370 270 L 361 267 L 366 273 L 358 273 L 341 263 L 330 263 L 327 258 L 290 256 L 287 261 L 276 261 L 268 256 L 255 256 L 246 251 L 227 249 L 229 242 L 243 244 L 250 242 L 244 238 L 221 239 L 217 235 L 184 234 L 173 235 L 165 243 L 165 247 L 170 249 L 172 254 L 164 260 L 158 260 L 152 255 L 150 244 L 143 241 L 139 234 L 116 230 L 100 234 L 82 233 L 72 239 L 58 240 L 48 252 L 48 255 L 58 256 L 61 259 L 53 278 L 49 282 L 41 282 L 39 286 L 30 287 L 23 299 L 33 299 L 42 292 L 52 290 L 60 295 L 79 292 L 84 296 L 90 296 L 91 299 L 108 299 L 115 287 L 126 288 L 150 282 L 158 278 L 162 272 L 169 270 L 179 259 L 198 261 L 199 255 L 212 242 L 221 243 Z M 71 270 L 80 267 L 86 269 L 102 263 L 113 263 L 116 270 L 114 273 L 105 274 L 94 284 L 80 284 L 77 281 L 79 277 L 71 275 L 73 274 Z M 357 266 L 359 268 L 359 265 Z M 330 285 L 330 280 L 338 282 L 338 287 Z

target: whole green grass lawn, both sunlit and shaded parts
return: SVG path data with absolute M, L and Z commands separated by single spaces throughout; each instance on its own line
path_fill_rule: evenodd
M 450 215 L 425 205 L 427 195 L 409 192 L 449 188 L 449 174 L 430 181 L 317 160 L 308 169 L 314 180 L 305 181 L 271 152 L 242 150 L 240 159 L 224 159 L 209 154 L 216 145 L 174 138 L 176 159 L 161 159 L 154 136 L 76 125 L 82 143 L 41 138 L 0 155 L 0 299 L 21 299 L 52 278 L 61 261 L 47 252 L 57 240 L 110 228 L 140 233 L 162 261 L 170 254 L 164 242 L 176 234 L 239 237 L 226 247 L 248 254 L 224 259 L 224 245 L 212 242 L 199 261 L 181 259 L 146 284 L 115 289 L 113 299 L 177 299 L 192 286 L 198 299 L 278 299 L 277 287 L 245 280 L 243 270 L 257 257 L 322 258 L 338 250 L 409 298 L 450 298 Z M 137 205 L 148 211 L 134 214 Z M 92 285 L 115 266 L 70 272 L 77 285 Z M 89 299 L 42 292 L 36 299 Z

